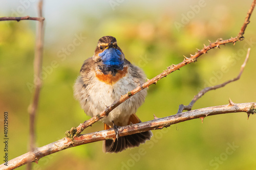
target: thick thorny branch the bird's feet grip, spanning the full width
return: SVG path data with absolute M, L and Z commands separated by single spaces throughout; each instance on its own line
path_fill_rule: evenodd
M 156 118 L 148 122 L 119 127 L 118 135 L 126 136 L 126 135 L 135 134 L 135 133 L 145 132 L 148 130 L 162 129 L 164 127 L 169 127 L 170 125 L 178 124 L 180 122 L 185 122 L 191 119 L 196 119 L 196 118 L 203 119 L 204 117 L 210 116 L 210 115 L 237 113 L 237 112 L 246 112 L 246 113 L 254 114 L 256 113 L 255 106 L 256 106 L 256 103 L 241 103 L 241 104 L 229 103 L 228 105 L 214 106 L 214 107 L 187 111 L 187 112 L 183 112 L 180 114 L 175 114 L 175 115 L 171 115 L 163 118 Z M 32 154 L 26 153 L 24 155 L 16 157 L 8 161 L 8 166 L 5 166 L 4 164 L 0 165 L 0 169 L 13 169 L 13 168 L 22 166 L 24 164 L 27 164 L 29 161 L 28 158 L 30 155 L 33 156 L 33 160 L 32 160 L 33 162 L 38 162 L 38 160 L 42 157 L 45 157 L 47 155 L 50 155 L 68 148 L 76 147 L 81 144 L 115 138 L 115 137 L 116 137 L 116 132 L 114 129 L 93 132 L 85 135 L 79 135 L 77 137 L 74 137 L 74 139 L 65 137 L 53 143 L 47 144 L 44 147 L 37 148 L 37 150 L 35 150 Z

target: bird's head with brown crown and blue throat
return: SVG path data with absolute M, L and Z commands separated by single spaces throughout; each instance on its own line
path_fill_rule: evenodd
M 101 37 L 95 48 L 93 59 L 98 62 L 101 69 L 105 71 L 123 69 L 124 54 L 117 45 L 115 37 Z

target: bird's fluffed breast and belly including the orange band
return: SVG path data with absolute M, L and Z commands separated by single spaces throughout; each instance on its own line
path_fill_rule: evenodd
M 83 110 L 90 116 L 99 114 L 106 106 L 110 106 L 118 100 L 121 95 L 133 90 L 143 83 L 143 79 L 134 78 L 132 69 L 125 65 L 123 70 L 117 71 L 114 75 L 104 75 L 99 70 L 91 70 L 87 74 L 82 74 L 75 84 L 75 96 L 80 101 Z M 91 75 L 91 78 L 86 78 Z M 144 75 L 142 75 L 144 78 Z M 85 80 L 88 82 L 84 84 Z M 90 80 L 90 81 L 89 81 Z M 132 96 L 124 103 L 114 109 L 108 117 L 102 121 L 112 125 L 112 121 L 118 126 L 127 125 L 129 117 L 134 114 L 144 102 L 146 89 Z

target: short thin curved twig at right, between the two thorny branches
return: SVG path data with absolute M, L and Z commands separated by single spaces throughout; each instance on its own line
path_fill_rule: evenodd
M 215 90 L 217 88 L 221 88 L 221 87 L 224 87 L 225 85 L 227 85 L 228 83 L 231 83 L 231 82 L 234 82 L 234 81 L 237 81 L 240 79 L 243 71 L 244 71 L 244 67 L 248 61 L 248 58 L 249 58 L 249 54 L 250 54 L 250 48 L 248 48 L 248 51 L 247 51 L 247 55 L 246 55 L 246 58 L 244 60 L 244 63 L 241 65 L 241 68 L 240 68 L 240 72 L 239 72 L 239 75 L 236 77 L 236 78 L 233 78 L 231 80 L 228 80 L 222 84 L 218 84 L 216 86 L 211 86 L 211 87 L 205 87 L 204 89 L 202 89 L 197 95 L 194 96 L 193 100 L 189 103 L 189 105 L 186 105 L 184 106 L 183 104 L 181 104 L 179 106 L 179 109 L 178 109 L 178 113 L 181 113 L 183 110 L 191 110 L 193 105 L 197 102 L 198 99 L 200 99 L 206 92 L 210 91 L 210 90 Z

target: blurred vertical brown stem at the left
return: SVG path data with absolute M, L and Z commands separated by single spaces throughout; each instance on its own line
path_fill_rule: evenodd
M 42 0 L 38 3 L 38 15 L 39 17 L 42 17 Z M 29 150 L 30 152 L 33 152 L 35 150 L 35 116 L 36 111 L 38 108 L 38 102 L 39 102 L 39 95 L 40 95 L 40 89 L 41 89 L 41 69 L 42 69 L 42 50 L 43 50 L 43 43 L 44 43 L 44 21 L 41 21 L 38 23 L 37 28 L 37 37 L 36 37 L 36 46 L 35 46 L 35 58 L 34 58 L 34 74 L 36 75 L 36 81 L 35 81 L 35 92 L 33 96 L 33 101 L 29 106 L 29 136 L 30 136 L 30 144 L 29 144 Z M 32 157 L 31 157 L 32 160 Z M 31 162 L 31 161 L 30 161 Z M 31 169 L 31 163 L 28 164 L 27 169 Z

